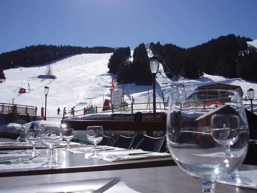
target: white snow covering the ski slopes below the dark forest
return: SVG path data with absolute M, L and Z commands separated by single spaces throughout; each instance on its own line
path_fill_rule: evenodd
M 253 41 L 254 43 L 257 40 Z M 248 42 L 247 42 L 248 43 Z M 257 47 L 257 46 L 256 46 Z M 132 58 L 133 51 L 130 59 Z M 66 107 L 67 112 L 71 107 L 75 106 L 75 111 L 89 106 L 92 103 L 93 106 L 102 107 L 104 99 L 111 99 L 111 73 L 108 73 L 107 63 L 111 53 L 107 54 L 77 54 L 66 58 L 61 58 L 51 62 L 53 75 L 56 79 L 52 78 L 38 78 L 38 75 L 42 75 L 45 72 L 47 64 L 40 66 L 19 67 L 4 70 L 6 81 L 0 83 L 1 103 L 12 103 L 14 99 L 15 104 L 36 106 L 38 107 L 37 114 L 40 115 L 41 107 L 45 106 L 45 94 L 44 87 L 49 87 L 47 95 L 47 119 L 49 120 L 61 120 L 62 110 Z M 17 64 L 19 65 L 19 64 Z M 33 65 L 33 64 L 32 64 Z M 172 70 L 172 69 L 171 69 Z M 115 75 L 113 75 L 115 81 Z M 176 87 L 170 87 L 170 82 L 175 79 L 168 78 L 163 71 L 162 65 L 159 67 L 159 71 L 156 75 L 156 101 L 162 102 L 162 93 L 165 99 L 172 92 L 176 92 Z M 252 88 L 257 90 L 256 82 L 246 81 L 241 78 L 228 79 L 221 76 L 212 76 L 205 74 L 203 78 L 195 80 L 180 80 L 184 81 L 185 91 L 183 87 L 179 87 L 181 91 L 181 97 L 189 96 L 190 93 L 198 86 L 224 83 L 231 85 L 239 85 L 242 87 L 244 95 L 247 96 L 247 90 Z M 30 85 L 30 91 L 29 86 Z M 163 84 L 167 83 L 167 84 Z M 121 84 L 114 82 L 115 87 L 121 86 Z M 19 88 L 25 88 L 26 93 L 19 93 Z M 153 95 L 153 86 L 140 85 L 137 86 L 134 83 L 124 84 L 124 100 L 128 103 L 132 102 L 132 96 L 135 99 L 135 103 L 147 102 L 149 95 Z M 3 92 L 4 91 L 4 92 Z M 243 97 L 244 98 L 244 97 Z M 153 97 L 151 97 L 151 102 Z M 249 101 L 247 101 L 249 103 Z M 57 108 L 60 107 L 60 115 L 57 115 Z M 136 110 L 142 108 L 143 105 L 134 105 L 133 109 Z M 145 108 L 145 107 L 144 107 Z M 250 109 L 250 107 L 247 107 Z M 157 110 L 157 112 L 160 110 Z M 98 109 L 99 112 L 99 109 Z M 143 112 L 143 111 L 141 111 Z M 149 110 L 145 111 L 149 112 Z M 131 111 L 124 111 L 123 113 L 131 113 Z M 108 118 L 111 117 L 112 111 L 97 114 L 88 114 L 85 116 L 72 117 L 70 113 L 66 116 L 70 119 L 92 119 L 92 118 Z

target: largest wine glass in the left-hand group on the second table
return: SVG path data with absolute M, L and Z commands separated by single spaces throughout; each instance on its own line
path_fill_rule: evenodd
M 60 128 L 60 125 L 42 125 L 40 137 L 42 144 L 50 150 L 48 161 L 41 165 L 61 165 L 61 163 L 56 162 L 53 158 L 53 148 L 57 147 L 62 142 L 62 130 Z

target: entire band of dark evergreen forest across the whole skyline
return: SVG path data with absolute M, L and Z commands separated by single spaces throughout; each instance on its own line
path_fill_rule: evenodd
M 246 51 L 246 41 L 252 41 L 252 39 L 229 34 L 187 49 L 172 43 L 161 45 L 160 42 L 151 42 L 150 49 L 159 57 L 160 65 L 163 65 L 164 72 L 170 78 L 176 76 L 196 79 L 206 73 L 257 82 L 257 52 L 256 49 Z M 152 84 L 149 57 L 144 43 L 140 43 L 134 49 L 133 61 L 130 59 L 130 47 L 114 50 L 111 47 L 100 46 L 93 48 L 69 45 L 29 46 L 0 54 L 0 79 L 5 78 L 3 69 L 46 64 L 81 53 L 113 53 L 107 67 L 109 73 L 116 75 L 117 82 Z

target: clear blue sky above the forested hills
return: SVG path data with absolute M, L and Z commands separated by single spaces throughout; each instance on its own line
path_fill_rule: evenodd
M 187 48 L 234 33 L 257 39 L 256 0 L 1 0 L 0 53 L 30 45 Z

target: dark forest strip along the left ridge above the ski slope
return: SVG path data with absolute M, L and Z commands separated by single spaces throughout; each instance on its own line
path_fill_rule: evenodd
M 21 48 L 10 52 L 0 54 L 0 66 L 3 69 L 15 68 L 15 66 L 34 66 L 43 65 L 53 60 L 74 54 L 82 53 L 112 53 L 114 48 L 111 47 L 79 47 L 79 46 L 55 46 L 55 45 L 37 45 Z

